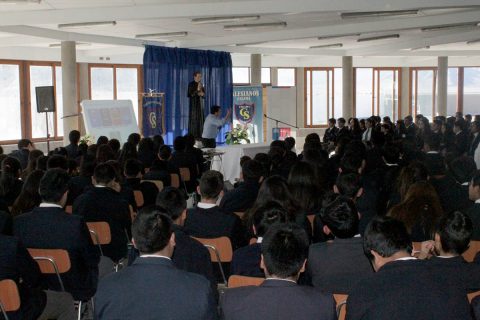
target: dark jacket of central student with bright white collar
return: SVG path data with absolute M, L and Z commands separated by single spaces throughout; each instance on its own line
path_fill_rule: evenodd
M 187 212 L 185 232 L 198 238 L 230 238 L 233 249 L 246 245 L 245 229 L 240 218 L 215 206 L 210 209 L 193 208 Z

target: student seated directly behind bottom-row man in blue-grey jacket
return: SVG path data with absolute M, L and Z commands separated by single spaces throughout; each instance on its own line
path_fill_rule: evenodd
M 210 253 L 208 249 L 184 232 L 183 225 L 187 217 L 187 200 L 183 191 L 173 187 L 167 187 L 157 196 L 156 206 L 143 209 L 144 212 L 155 210 L 155 208 L 167 208 L 166 213 L 172 219 L 173 232 L 175 233 L 175 251 L 172 261 L 175 267 L 197 273 L 210 280 L 212 288 L 216 290 L 217 282 L 213 276 Z M 137 249 L 131 250 L 128 264 L 139 256 Z

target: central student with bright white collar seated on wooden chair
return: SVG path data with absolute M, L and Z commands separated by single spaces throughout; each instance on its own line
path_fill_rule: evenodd
M 197 192 L 201 200 L 196 208 L 188 210 L 185 232 L 199 238 L 229 237 L 233 249 L 245 245 L 245 230 L 240 218 L 216 205 L 223 193 L 223 175 L 214 170 L 205 172 Z

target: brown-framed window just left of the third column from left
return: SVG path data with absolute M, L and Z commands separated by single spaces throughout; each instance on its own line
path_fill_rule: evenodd
M 326 126 L 329 118 L 341 117 L 342 69 L 308 68 L 305 78 L 306 127 Z

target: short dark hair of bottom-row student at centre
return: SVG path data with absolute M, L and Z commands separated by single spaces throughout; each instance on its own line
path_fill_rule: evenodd
M 308 236 L 294 223 L 272 226 L 262 241 L 265 267 L 270 275 L 280 278 L 296 276 L 308 255 Z

